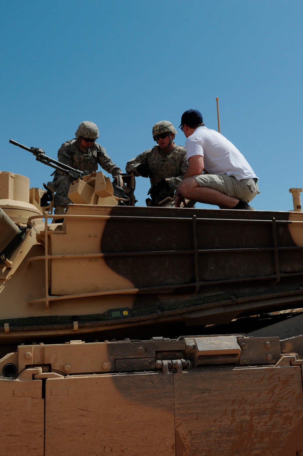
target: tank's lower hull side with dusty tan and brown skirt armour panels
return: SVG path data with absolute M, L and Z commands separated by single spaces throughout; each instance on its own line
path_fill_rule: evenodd
M 0 359 L 3 454 L 300 455 L 302 338 L 19 346 Z

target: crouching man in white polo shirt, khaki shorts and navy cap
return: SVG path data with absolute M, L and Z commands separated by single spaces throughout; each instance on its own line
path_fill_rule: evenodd
M 182 114 L 180 127 L 187 137 L 189 166 L 178 185 L 175 206 L 187 198 L 221 209 L 253 210 L 248 202 L 260 193 L 258 178 L 240 151 L 223 135 L 206 128 L 196 109 Z

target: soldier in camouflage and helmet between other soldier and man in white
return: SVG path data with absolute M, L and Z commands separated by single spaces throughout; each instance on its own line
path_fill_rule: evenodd
M 158 206 L 163 199 L 173 197 L 188 168 L 185 147 L 173 142 L 176 134 L 177 130 L 171 122 L 158 122 L 152 127 L 152 136 L 157 145 L 126 163 L 127 173 L 134 171 L 135 176 L 150 178 L 148 194 L 151 199 L 146 199 L 147 206 Z

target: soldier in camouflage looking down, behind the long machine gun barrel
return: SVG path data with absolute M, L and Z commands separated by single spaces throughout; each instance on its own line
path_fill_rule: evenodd
M 58 161 L 72 166 L 80 171 L 94 172 L 99 165 L 112 176 L 123 174 L 120 168 L 111 161 L 104 147 L 95 142 L 99 138 L 99 130 L 96 124 L 90 121 L 81 122 L 75 133 L 76 138 L 66 141 L 58 150 Z M 55 213 L 63 214 L 65 207 L 71 202 L 68 198 L 68 190 L 73 180 L 56 172 L 52 182 L 47 182 L 47 187 L 56 192 Z

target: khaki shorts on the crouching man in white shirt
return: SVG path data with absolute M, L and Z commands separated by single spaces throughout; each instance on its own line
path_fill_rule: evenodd
M 193 176 L 200 187 L 210 187 L 219 192 L 237 198 L 239 201 L 251 201 L 258 192 L 258 184 L 253 179 L 238 179 L 227 174 L 199 174 Z

